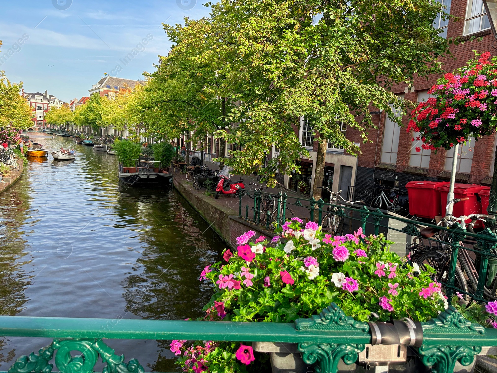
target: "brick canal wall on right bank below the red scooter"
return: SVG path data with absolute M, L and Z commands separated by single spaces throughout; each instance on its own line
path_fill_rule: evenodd
M 176 190 L 192 205 L 192 207 L 204 218 L 207 223 L 223 238 L 228 245 L 235 249 L 237 245 L 237 237 L 241 236 L 248 230 L 255 231 L 256 235 L 264 235 L 273 237 L 274 233 L 268 232 L 265 229 L 254 226 L 244 219 L 238 217 L 238 211 L 233 208 L 223 206 L 216 203 L 214 197 L 208 197 L 202 192 L 195 190 L 189 183 L 180 178 L 175 177 L 173 180 Z M 221 196 L 220 198 L 230 198 Z M 233 198 L 234 205 L 238 208 L 238 198 Z M 236 203 L 235 203 L 236 202 Z

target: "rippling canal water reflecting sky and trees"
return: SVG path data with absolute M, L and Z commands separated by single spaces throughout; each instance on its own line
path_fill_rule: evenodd
M 212 288 L 198 278 L 226 246 L 188 202 L 176 191 L 120 185 L 115 156 L 70 138 L 29 136 L 49 151 L 75 148 L 77 156 L 30 160 L 0 194 L 1 314 L 201 316 Z M 0 370 L 50 342 L 0 338 Z M 126 361 L 137 358 L 146 372 L 177 370 L 165 341 L 108 344 Z

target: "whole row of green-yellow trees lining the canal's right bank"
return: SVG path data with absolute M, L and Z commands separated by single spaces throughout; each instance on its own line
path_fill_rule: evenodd
M 316 179 L 323 179 L 327 144 L 358 154 L 340 131 L 340 122 L 363 142 L 374 127 L 371 107 L 400 124 L 391 107 L 407 111 L 409 102 L 391 92 L 413 76 L 440 74 L 438 59 L 449 54 L 433 20 L 440 2 L 221 0 L 208 17 L 164 24 L 172 42 L 146 84 L 115 100 L 98 95 L 70 114 L 48 114 L 54 123 L 74 120 L 93 127 L 124 125 L 130 133 L 157 139 L 191 136 L 206 146 L 219 138 L 220 161 L 237 174 L 258 168 L 274 183 L 277 169 L 299 169 L 309 156 L 294 128 L 300 117 L 312 123 L 318 141 Z M 388 21 L 385 21 L 388 20 Z M 62 115 L 64 111 L 64 115 Z M 70 115 L 73 115 L 72 117 Z M 47 118 L 48 120 L 48 118 Z M 133 131 L 135 129 L 135 131 Z M 357 141 L 357 140 L 356 140 Z M 226 142 L 239 144 L 223 158 Z M 279 150 L 264 166 L 266 154 Z M 240 150 L 241 149 L 241 150 Z M 319 195 L 314 183 L 314 195 Z

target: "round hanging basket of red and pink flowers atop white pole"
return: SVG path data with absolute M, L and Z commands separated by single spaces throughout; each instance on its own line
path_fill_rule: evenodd
M 411 112 L 407 131 L 414 129 L 423 149 L 450 149 L 468 138 L 497 129 L 497 57 L 476 54 L 466 66 L 447 73 L 428 91 L 432 97 Z M 416 147 L 416 151 L 421 151 Z

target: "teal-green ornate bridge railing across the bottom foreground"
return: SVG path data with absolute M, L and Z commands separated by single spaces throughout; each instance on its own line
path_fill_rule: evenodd
M 103 373 L 144 372 L 137 359 L 126 363 L 123 355 L 116 355 L 104 342 L 108 338 L 294 343 L 304 363 L 316 365 L 321 373 L 337 372 L 340 361 L 347 365 L 360 362 L 359 354 L 368 348 L 372 355 L 376 345 L 390 345 L 395 351 L 406 351 L 410 346 L 426 367 L 449 373 L 457 363 L 473 364 L 478 354 L 495 354 L 492 346 L 497 345 L 497 329 L 473 324 L 451 306 L 436 319 L 423 323 L 407 319 L 392 323 L 358 322 L 347 317 L 334 303 L 319 315 L 294 323 L 113 321 L 0 316 L 1 336 L 54 338 L 38 354 L 19 357 L 8 373 L 50 373 L 53 370 L 50 361 L 54 358 L 57 369 L 64 373 L 93 372 L 98 358 L 106 364 Z M 75 351 L 79 354 L 74 355 Z M 374 361 L 374 356 L 368 361 Z

